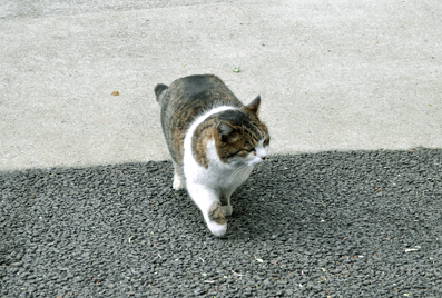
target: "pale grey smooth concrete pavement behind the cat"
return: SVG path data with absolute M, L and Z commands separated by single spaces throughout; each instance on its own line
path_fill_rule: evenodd
M 442 147 L 441 1 L 121 2 L 0 6 L 0 170 L 167 159 L 153 89 L 195 73 L 273 153 Z

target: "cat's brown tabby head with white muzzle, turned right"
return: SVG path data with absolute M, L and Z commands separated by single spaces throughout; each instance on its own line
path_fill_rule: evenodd
M 258 119 L 259 105 L 258 96 L 239 110 L 219 113 L 215 145 L 223 162 L 255 166 L 267 158 L 271 137 Z

